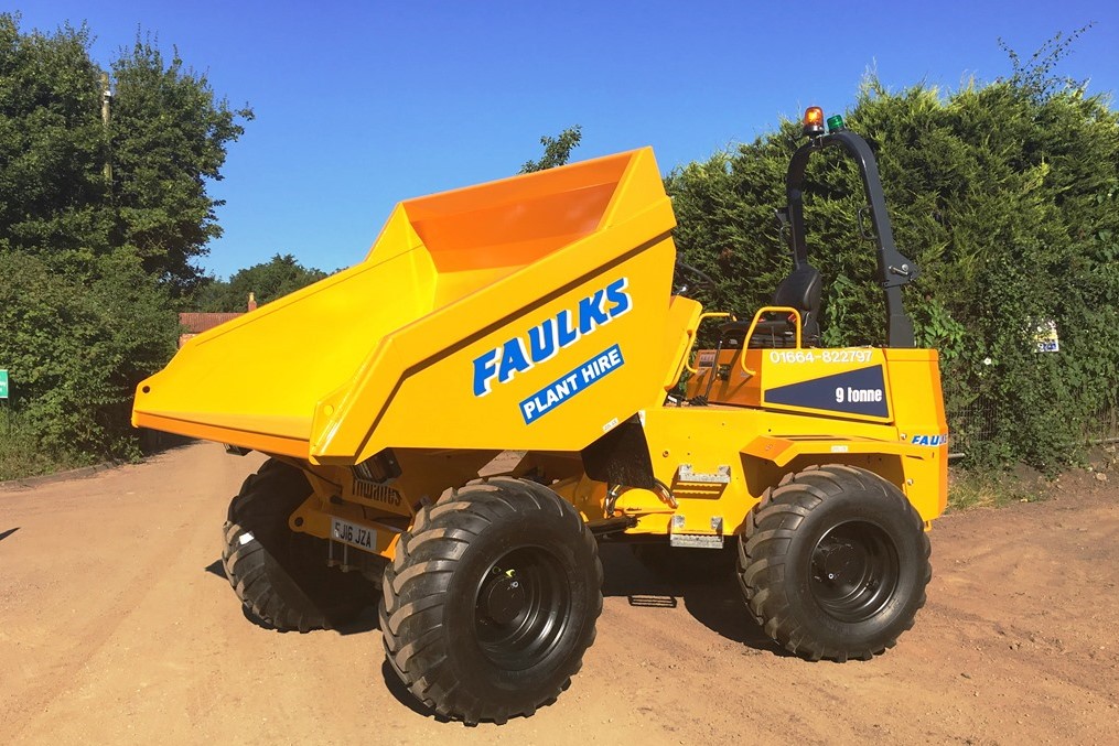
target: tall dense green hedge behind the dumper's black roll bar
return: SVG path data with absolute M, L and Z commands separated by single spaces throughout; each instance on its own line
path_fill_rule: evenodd
M 1015 60 L 1009 79 L 949 94 L 893 93 L 872 76 L 845 119 L 877 152 L 899 248 L 922 270 L 906 304 L 919 341 L 940 349 L 950 427 L 981 402 L 993 434 L 970 440 L 969 456 L 1049 470 L 1078 459 L 1087 419 L 1119 379 L 1119 115 L 1054 77 L 1052 54 L 1033 59 L 1040 67 Z M 666 179 L 684 259 L 720 278 L 708 304 L 752 312 L 789 272 L 772 208 L 784 204 L 799 129 L 782 122 Z M 882 343 L 857 171 L 827 151 L 806 183 L 825 341 Z M 1055 355 L 1034 351 L 1046 321 Z

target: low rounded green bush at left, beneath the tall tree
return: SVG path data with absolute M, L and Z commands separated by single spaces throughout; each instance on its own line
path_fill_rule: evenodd
M 54 454 L 130 455 L 135 384 L 170 359 L 178 318 L 140 259 L 0 253 L 11 406 Z

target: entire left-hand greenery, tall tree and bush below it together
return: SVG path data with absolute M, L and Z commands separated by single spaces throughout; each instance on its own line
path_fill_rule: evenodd
M 134 450 L 132 389 L 173 352 L 173 306 L 219 235 L 206 186 L 252 116 L 149 41 L 110 76 L 90 40 L 0 13 L 0 367 L 6 426 L 39 465 Z

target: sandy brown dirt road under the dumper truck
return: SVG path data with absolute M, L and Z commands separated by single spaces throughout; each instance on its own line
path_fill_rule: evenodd
M 938 521 L 929 604 L 871 662 L 786 657 L 731 583 L 674 586 L 604 547 L 571 689 L 466 728 L 389 683 L 372 615 L 346 634 L 245 618 L 220 526 L 258 463 L 199 444 L 0 487 L 0 743 L 1119 743 L 1119 475 Z

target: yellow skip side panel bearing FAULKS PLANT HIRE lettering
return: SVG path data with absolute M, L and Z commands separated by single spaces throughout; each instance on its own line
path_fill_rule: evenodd
M 467 339 L 445 330 L 458 343 L 426 342 L 438 352 L 403 371 L 387 391 L 370 380 L 369 402 L 385 403 L 379 413 L 359 410 L 365 387 L 354 391 L 345 417 L 363 442 L 325 441 L 312 460 L 329 463 L 332 451 L 357 450 L 361 461 L 386 446 L 577 451 L 594 442 L 662 395 L 666 267 L 675 253 L 665 237 L 568 286 L 516 289 L 516 298 L 502 299 L 518 310 L 515 317 Z M 411 337 L 399 352 L 384 353 L 411 358 L 403 349 Z

